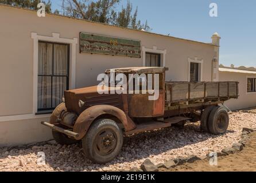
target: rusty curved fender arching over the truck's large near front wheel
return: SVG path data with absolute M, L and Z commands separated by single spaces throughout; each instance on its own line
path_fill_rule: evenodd
M 126 132 L 136 128 L 133 120 L 121 109 L 110 105 L 96 105 L 84 110 L 77 118 L 73 128 L 73 132 L 79 134 L 76 140 L 81 140 L 86 135 L 92 122 L 103 114 L 110 114 L 117 117 L 122 122 L 123 126 L 125 126 Z

